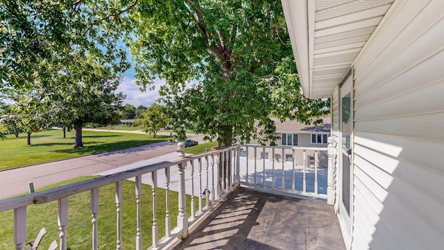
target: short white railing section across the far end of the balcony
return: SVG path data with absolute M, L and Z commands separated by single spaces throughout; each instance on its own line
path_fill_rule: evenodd
M 242 145 L 240 155 L 242 185 L 327 199 L 327 148 Z

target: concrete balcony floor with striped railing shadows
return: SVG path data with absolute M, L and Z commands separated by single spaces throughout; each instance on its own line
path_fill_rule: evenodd
M 332 206 L 239 188 L 173 249 L 345 249 Z

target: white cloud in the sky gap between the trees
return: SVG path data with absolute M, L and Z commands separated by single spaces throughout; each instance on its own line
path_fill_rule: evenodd
M 136 84 L 135 78 L 123 76 L 119 88 L 117 88 L 117 92 L 123 92 L 123 94 L 126 94 L 126 99 L 123 103 L 130 103 L 136 107 L 139 105 L 148 107 L 159 99 L 159 89 L 164 83 L 165 81 L 162 79 L 155 79 L 155 89 L 142 92 L 139 90 L 139 85 Z

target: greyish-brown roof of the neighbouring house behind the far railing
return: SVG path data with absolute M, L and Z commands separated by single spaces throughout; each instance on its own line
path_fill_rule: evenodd
M 300 132 L 300 133 L 330 133 L 331 117 L 323 117 L 323 124 L 319 125 L 306 125 L 295 120 L 286 119 L 284 122 L 280 122 L 278 118 L 271 118 L 276 124 L 276 133 L 285 132 Z

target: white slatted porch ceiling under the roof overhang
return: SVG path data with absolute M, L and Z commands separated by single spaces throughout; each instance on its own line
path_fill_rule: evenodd
M 394 0 L 281 0 L 306 97 L 330 97 Z

